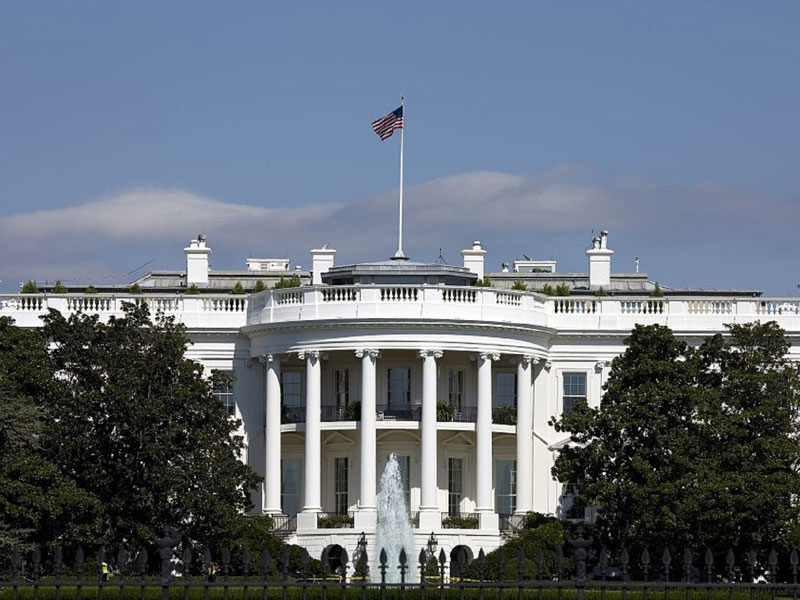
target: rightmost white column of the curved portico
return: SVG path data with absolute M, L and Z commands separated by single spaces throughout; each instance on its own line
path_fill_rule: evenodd
M 517 363 L 517 509 L 533 510 L 533 357 Z

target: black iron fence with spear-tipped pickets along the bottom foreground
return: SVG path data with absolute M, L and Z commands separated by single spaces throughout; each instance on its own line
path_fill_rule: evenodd
M 218 557 L 206 550 L 196 557 L 188 548 L 180 552 L 176 541 L 165 536 L 149 552 L 141 549 L 135 555 L 120 550 L 111 557 L 101 549 L 87 560 L 78 547 L 70 565 L 60 549 L 47 556 L 39 549 L 24 555 L 14 551 L 0 568 L 0 598 L 796 600 L 800 589 L 796 550 L 772 550 L 765 556 L 750 551 L 737 557 L 732 551 L 687 548 L 675 562 L 669 549 L 655 559 L 656 553 L 645 548 L 636 560 L 623 549 L 612 560 L 606 549 L 595 550 L 580 529 L 566 552 L 546 554 L 538 548 L 533 556 L 522 548 L 507 553 L 501 547 L 490 556 L 481 550 L 471 560 L 459 546 L 449 560 L 444 549 L 436 553 L 429 546 L 414 561 L 401 553 L 393 566 L 381 551 L 374 580 L 368 575 L 366 550 L 360 542 L 352 564 L 341 546 L 326 550 L 321 561 L 305 552 L 294 559 L 286 546 L 278 557 L 266 550 L 251 555 L 247 549 L 235 555 L 222 550 Z M 393 569 L 399 583 L 388 583 Z

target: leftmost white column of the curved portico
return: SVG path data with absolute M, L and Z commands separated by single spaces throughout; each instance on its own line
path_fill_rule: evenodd
M 264 512 L 281 513 L 281 363 L 273 354 L 259 357 L 264 364 L 266 429 L 264 441 Z

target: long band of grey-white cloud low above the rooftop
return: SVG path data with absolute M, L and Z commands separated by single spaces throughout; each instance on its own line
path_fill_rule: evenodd
M 676 230 L 691 237 L 721 225 L 732 231 L 753 224 L 784 227 L 796 225 L 799 216 L 789 198 L 631 177 L 590 180 L 568 166 L 532 177 L 492 171 L 442 177 L 408 186 L 405 205 L 404 247 L 420 259 L 435 257 L 440 247 L 457 256 L 476 238 L 513 257 L 538 249 L 511 248 L 511 241 L 564 235 L 580 256 L 591 228 L 610 229 L 620 234 L 616 239 L 647 231 L 658 247 Z M 1 218 L 0 277 L 10 289 L 29 277 L 74 277 L 87 274 L 83 269 L 116 273 L 151 258 L 152 268 L 177 268 L 181 249 L 199 232 L 208 235 L 218 268 L 242 267 L 250 252 L 288 252 L 293 262 L 308 264 L 308 249 L 323 243 L 339 249 L 344 262 L 375 260 L 394 253 L 396 231 L 396 191 L 340 204 L 267 208 L 182 190 L 128 190 Z M 720 243 L 726 241 L 720 236 Z

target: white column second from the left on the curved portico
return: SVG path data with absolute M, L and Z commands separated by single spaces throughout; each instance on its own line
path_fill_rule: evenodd
M 321 512 L 320 415 L 322 391 L 319 352 L 303 352 L 299 356 L 301 360 L 305 358 L 306 361 L 306 471 L 303 512 Z

